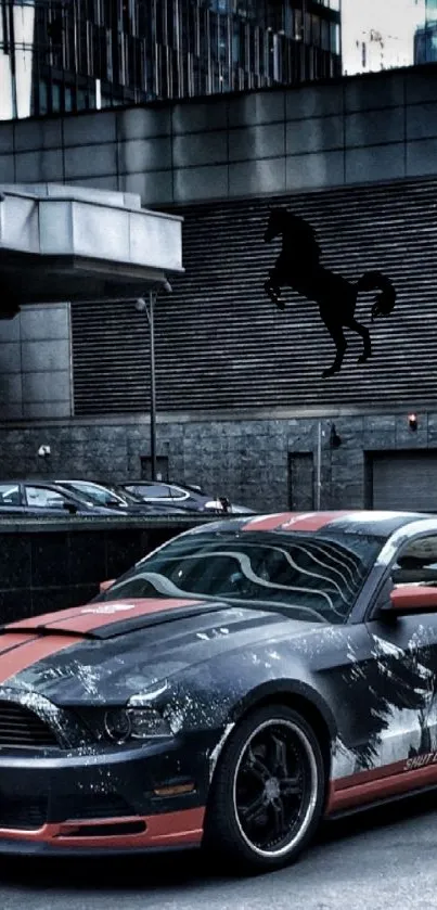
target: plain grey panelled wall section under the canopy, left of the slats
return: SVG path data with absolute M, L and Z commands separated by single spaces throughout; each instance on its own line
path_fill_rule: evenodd
M 70 416 L 70 344 L 68 304 L 0 320 L 0 420 Z

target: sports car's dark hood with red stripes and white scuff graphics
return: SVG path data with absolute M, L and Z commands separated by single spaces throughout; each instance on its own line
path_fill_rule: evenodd
M 0 688 L 56 704 L 120 704 L 159 680 L 210 667 L 326 629 L 320 623 L 220 601 L 103 601 L 2 628 Z M 1 696 L 1 695 L 0 695 Z

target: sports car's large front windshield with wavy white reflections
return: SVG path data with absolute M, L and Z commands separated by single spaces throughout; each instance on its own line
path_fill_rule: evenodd
M 192 595 L 345 623 L 383 543 L 361 534 L 197 531 L 151 553 L 97 600 Z

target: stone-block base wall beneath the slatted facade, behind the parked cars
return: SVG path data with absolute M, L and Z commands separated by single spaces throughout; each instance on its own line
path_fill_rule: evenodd
M 367 502 L 365 452 L 437 450 L 437 411 L 419 413 L 412 433 L 406 413 L 338 415 L 342 439 L 330 446 L 332 419 L 322 420 L 321 505 L 362 508 Z M 290 500 L 290 461 L 294 453 L 312 454 L 316 462 L 318 419 L 160 421 L 157 454 L 168 458 L 169 476 L 201 484 L 211 495 L 228 495 L 254 509 L 277 511 L 295 505 Z M 149 423 L 144 419 L 81 421 L 75 425 L 0 427 L 1 476 L 41 473 L 40 445 L 51 446 L 48 474 L 125 480 L 141 476 L 141 456 L 150 454 Z M 309 476 L 305 484 L 308 486 Z M 306 490 L 306 495 L 310 494 Z M 310 497 L 309 497 L 310 498 Z M 312 508 L 310 503 L 299 508 Z

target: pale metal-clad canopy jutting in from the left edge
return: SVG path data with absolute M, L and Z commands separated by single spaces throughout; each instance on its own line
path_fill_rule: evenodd
M 0 317 L 22 303 L 140 297 L 178 272 L 182 219 L 140 196 L 0 184 Z

